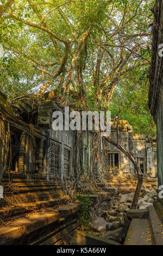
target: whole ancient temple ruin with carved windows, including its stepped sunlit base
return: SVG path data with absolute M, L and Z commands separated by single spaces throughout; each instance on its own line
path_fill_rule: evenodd
M 134 176 L 134 167 L 97 132 L 54 131 L 52 114 L 64 114 L 64 108 L 49 96 L 40 102 L 26 98 L 10 104 L 3 93 L 0 96 L 0 176 L 4 190 L 0 213 L 2 220 L 14 223 L 0 228 L 0 243 L 68 244 L 68 234 L 78 227 L 78 205 L 70 203 L 66 185 L 96 177 L 99 186 L 104 187 L 99 179 L 101 170 L 108 176 Z M 116 139 L 115 123 L 110 137 Z M 155 138 L 135 135 L 127 121 L 120 121 L 120 140 L 140 164 L 143 174 L 155 178 Z M 117 191 L 107 186 L 90 195 L 98 205 L 96 216 L 109 209 Z M 33 211 L 37 212 L 27 218 Z

